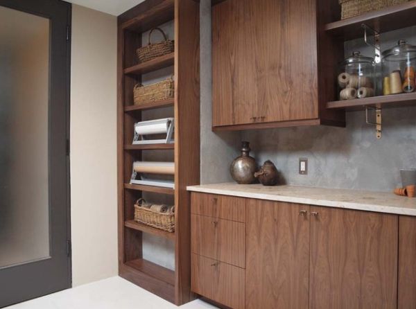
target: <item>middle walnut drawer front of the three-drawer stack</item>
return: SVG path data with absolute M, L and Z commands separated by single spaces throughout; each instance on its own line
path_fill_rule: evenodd
M 191 251 L 245 268 L 245 223 L 191 215 Z

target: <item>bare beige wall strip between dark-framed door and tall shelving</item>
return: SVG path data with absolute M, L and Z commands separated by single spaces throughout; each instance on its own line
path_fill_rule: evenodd
M 73 6 L 73 286 L 117 274 L 116 38 L 116 17 Z

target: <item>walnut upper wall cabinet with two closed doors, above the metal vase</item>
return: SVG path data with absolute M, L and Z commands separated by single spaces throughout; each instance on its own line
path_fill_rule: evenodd
M 324 108 L 316 0 L 226 0 L 213 6 L 213 128 L 345 125 Z M 320 42 L 321 44 L 321 42 Z M 322 38 L 324 44 L 324 38 Z M 321 104 L 322 103 L 322 104 Z

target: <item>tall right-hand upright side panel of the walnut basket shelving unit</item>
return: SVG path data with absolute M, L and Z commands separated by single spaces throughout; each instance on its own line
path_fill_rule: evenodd
M 191 293 L 191 195 L 200 182 L 199 3 L 175 0 L 175 303 Z

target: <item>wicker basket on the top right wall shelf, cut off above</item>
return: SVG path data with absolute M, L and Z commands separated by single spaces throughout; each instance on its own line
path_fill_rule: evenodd
M 381 10 L 410 0 L 338 0 L 341 5 L 341 19 L 355 17 L 366 12 Z

